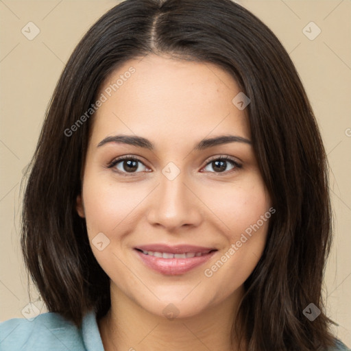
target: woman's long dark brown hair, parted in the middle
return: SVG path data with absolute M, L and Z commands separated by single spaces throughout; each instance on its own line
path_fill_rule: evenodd
M 151 53 L 217 64 L 251 100 L 252 143 L 276 214 L 263 256 L 245 281 L 241 323 L 233 321 L 232 335 L 245 339 L 250 351 L 324 350 L 332 345 L 321 296 L 332 226 L 322 138 L 287 51 L 230 0 L 123 1 L 73 51 L 49 104 L 24 195 L 22 250 L 47 308 L 77 326 L 88 310 L 99 318 L 110 308 L 109 278 L 75 209 L 94 117 L 86 111 L 114 69 Z M 322 310 L 313 322 L 303 313 L 311 303 Z

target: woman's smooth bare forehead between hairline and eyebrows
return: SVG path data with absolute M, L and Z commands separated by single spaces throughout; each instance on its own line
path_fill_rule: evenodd
M 137 134 L 169 145 L 205 136 L 250 138 L 245 110 L 232 99 L 240 92 L 232 76 L 215 64 L 146 56 L 125 62 L 101 86 L 92 141 Z

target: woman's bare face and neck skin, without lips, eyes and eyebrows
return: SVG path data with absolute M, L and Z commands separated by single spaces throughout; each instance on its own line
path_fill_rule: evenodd
M 135 73 L 94 116 L 77 197 L 93 253 L 111 280 L 111 308 L 98 322 L 104 348 L 237 350 L 235 341 L 230 346 L 230 328 L 243 283 L 263 253 L 268 221 L 213 276 L 204 270 L 269 210 L 271 200 L 250 143 L 193 148 L 204 138 L 228 134 L 250 141 L 245 110 L 232 104 L 240 89 L 214 64 L 152 55 L 123 64 L 100 93 L 130 66 Z M 116 134 L 143 136 L 154 149 L 97 146 Z M 108 168 L 123 155 L 143 163 L 134 173 L 125 171 L 123 162 Z M 213 156 L 230 156 L 242 167 L 226 162 L 224 171 L 216 171 Z M 173 180 L 162 173 L 169 162 L 180 171 Z M 101 251 L 92 242 L 100 232 L 110 241 Z M 140 260 L 134 247 L 149 243 L 218 251 L 204 265 L 171 276 Z M 175 319 L 162 312 L 169 304 L 179 313 Z

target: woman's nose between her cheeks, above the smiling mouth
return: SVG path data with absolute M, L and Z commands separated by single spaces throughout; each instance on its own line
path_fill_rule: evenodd
M 161 174 L 160 184 L 149 206 L 148 222 L 152 226 L 162 226 L 168 232 L 199 226 L 202 222 L 201 201 L 191 186 L 186 184 L 182 173 L 173 180 Z

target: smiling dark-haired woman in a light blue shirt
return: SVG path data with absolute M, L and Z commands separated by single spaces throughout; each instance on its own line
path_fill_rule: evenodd
M 60 77 L 24 198 L 50 313 L 1 350 L 348 350 L 321 297 L 326 154 L 276 36 L 229 0 L 127 0 Z

